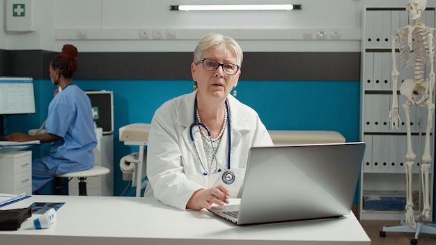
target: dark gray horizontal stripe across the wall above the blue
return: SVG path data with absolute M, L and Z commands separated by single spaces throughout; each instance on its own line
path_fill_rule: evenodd
M 0 75 L 49 79 L 55 54 L 0 50 Z M 190 80 L 192 58 L 192 52 L 79 52 L 73 78 Z M 245 52 L 240 79 L 359 81 L 360 52 Z

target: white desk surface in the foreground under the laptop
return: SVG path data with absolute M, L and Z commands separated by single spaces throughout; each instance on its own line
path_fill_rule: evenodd
M 20 230 L 0 231 L 2 244 L 371 244 L 352 213 L 338 219 L 235 226 L 207 210 L 176 210 L 153 198 L 31 196 L 0 209 L 36 202 L 65 204 L 52 227 L 34 230 L 33 215 Z

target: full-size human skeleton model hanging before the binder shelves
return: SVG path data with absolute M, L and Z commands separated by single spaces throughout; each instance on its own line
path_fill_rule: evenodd
M 427 107 L 428 119 L 426 127 L 426 139 L 424 151 L 421 159 L 421 180 L 422 180 L 422 193 L 423 193 L 423 210 L 419 217 L 428 219 L 430 217 L 430 200 L 429 200 L 429 169 L 432 161 L 430 155 L 430 130 L 433 125 L 433 112 L 435 111 L 435 104 L 433 104 L 433 87 L 435 85 L 435 73 L 433 69 L 435 45 L 433 43 L 433 33 L 435 29 L 429 28 L 421 24 L 419 18 L 421 12 L 426 8 L 425 0 L 409 0 L 406 4 L 409 13 L 409 19 L 412 24 L 397 29 L 392 35 L 392 108 L 389 113 L 389 120 L 391 127 L 398 129 L 398 121 L 401 122 L 398 115 L 398 96 L 397 96 L 397 82 L 399 72 L 396 69 L 396 54 L 395 44 L 399 38 L 399 62 L 400 65 L 405 67 L 414 67 L 414 79 L 405 79 L 400 86 L 400 94 L 407 97 L 407 101 L 403 104 L 406 117 L 407 127 L 407 153 L 405 162 L 406 173 L 406 206 L 405 206 L 405 223 L 410 228 L 416 228 L 414 219 L 414 205 L 412 200 L 412 166 L 416 159 L 416 155 L 412 149 L 412 136 L 410 134 L 410 106 Z M 423 78 L 424 66 L 430 67 L 428 78 Z

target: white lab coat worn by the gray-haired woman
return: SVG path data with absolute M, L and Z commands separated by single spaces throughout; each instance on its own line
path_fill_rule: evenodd
M 203 175 L 201 166 L 206 163 L 203 142 L 198 127 L 192 127 L 194 141 L 201 157 L 195 150 L 189 134 L 194 122 L 194 100 L 196 91 L 181 95 L 165 102 L 157 109 L 151 122 L 147 145 L 147 177 L 149 184 L 144 196 L 152 196 L 166 205 L 186 209 L 192 194 L 223 183 L 222 173 L 227 171 L 228 129 L 221 138 L 217 149 L 218 168 L 221 173 Z M 231 171 L 235 182 L 225 184 L 231 191 L 231 198 L 239 197 L 245 168 L 251 146 L 272 145 L 265 125 L 258 113 L 228 95 L 231 120 Z M 212 169 L 215 168 L 215 161 Z

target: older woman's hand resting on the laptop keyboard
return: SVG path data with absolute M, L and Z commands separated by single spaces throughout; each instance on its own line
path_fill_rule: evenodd
M 186 208 L 201 210 L 203 208 L 210 209 L 212 204 L 222 206 L 228 203 L 228 196 L 230 196 L 230 191 L 224 187 L 224 184 L 219 184 L 210 189 L 200 189 L 192 194 Z

